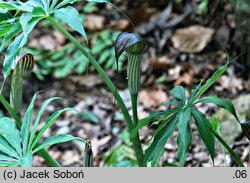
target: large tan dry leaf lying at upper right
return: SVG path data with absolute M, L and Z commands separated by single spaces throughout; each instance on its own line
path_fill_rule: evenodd
M 186 53 L 198 53 L 210 42 L 214 30 L 211 28 L 193 25 L 177 29 L 171 37 L 174 48 Z

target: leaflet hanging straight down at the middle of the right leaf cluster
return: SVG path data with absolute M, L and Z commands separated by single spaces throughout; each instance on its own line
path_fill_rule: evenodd
M 191 129 L 189 125 L 190 121 L 190 108 L 185 108 L 178 115 L 178 124 L 177 128 L 179 130 L 177 143 L 178 143 L 178 151 L 177 157 L 180 161 L 181 166 L 184 166 L 186 157 L 189 152 L 189 147 L 191 144 Z

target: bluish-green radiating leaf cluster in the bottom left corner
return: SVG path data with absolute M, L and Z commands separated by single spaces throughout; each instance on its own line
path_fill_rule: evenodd
M 38 129 L 41 116 L 46 106 L 53 100 L 60 98 L 54 97 L 46 100 L 41 106 L 33 123 L 32 112 L 36 95 L 37 94 L 32 98 L 32 101 L 24 114 L 20 130 L 18 130 L 16 123 L 11 118 L 0 118 L 0 166 L 30 167 L 32 166 L 33 155 L 45 147 L 72 140 L 85 142 L 85 140 L 69 134 L 57 134 L 40 142 L 44 132 L 64 111 L 70 110 L 70 108 L 56 111 L 46 120 L 43 127 Z

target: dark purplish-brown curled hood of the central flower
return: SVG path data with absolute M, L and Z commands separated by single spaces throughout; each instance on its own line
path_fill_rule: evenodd
M 134 48 L 136 46 L 136 48 Z M 115 57 L 118 60 L 120 55 L 126 50 L 129 53 L 140 55 L 146 53 L 149 43 L 135 33 L 122 32 L 115 40 Z

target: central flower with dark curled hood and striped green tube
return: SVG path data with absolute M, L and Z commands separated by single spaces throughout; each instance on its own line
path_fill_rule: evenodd
M 120 55 L 126 51 L 128 56 L 128 87 L 131 94 L 137 94 L 140 89 L 141 55 L 148 51 L 149 44 L 138 34 L 122 32 L 115 41 L 116 64 Z

